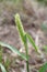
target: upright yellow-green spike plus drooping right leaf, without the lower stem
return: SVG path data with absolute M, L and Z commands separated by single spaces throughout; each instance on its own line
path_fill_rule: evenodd
M 24 44 L 25 44 L 25 38 L 24 38 L 24 35 L 26 34 L 26 39 L 30 40 L 30 42 L 31 42 L 32 45 L 34 47 L 35 51 L 38 52 L 38 48 L 35 45 L 35 42 L 34 42 L 34 40 L 32 39 L 32 37 L 24 31 L 19 14 L 15 14 L 15 23 L 16 23 L 16 27 L 17 27 L 17 30 L 19 30 L 19 33 L 20 33 L 20 37 L 21 37 L 22 41 L 24 42 Z

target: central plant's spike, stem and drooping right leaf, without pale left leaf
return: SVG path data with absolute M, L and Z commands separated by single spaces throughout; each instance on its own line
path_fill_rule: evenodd
M 30 42 L 32 43 L 32 45 L 35 48 L 36 52 L 38 52 L 38 48 L 35 45 L 35 42 L 34 42 L 34 40 L 31 38 L 31 35 L 27 34 L 27 33 L 24 31 L 19 14 L 15 14 L 15 23 L 16 23 L 16 27 L 17 27 L 17 30 L 19 30 L 21 40 L 22 40 L 22 42 L 23 42 L 23 44 L 24 44 L 24 48 L 25 48 L 25 53 L 26 53 L 26 59 L 27 59 L 27 61 L 26 61 L 26 70 L 27 70 L 27 72 L 30 72 L 30 70 L 28 70 L 28 47 L 27 47 L 27 39 L 30 40 Z M 39 53 L 39 52 L 38 52 L 38 53 Z

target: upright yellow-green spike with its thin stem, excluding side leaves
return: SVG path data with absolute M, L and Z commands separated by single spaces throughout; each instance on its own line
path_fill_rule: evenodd
M 27 72 L 30 72 L 30 69 L 28 69 L 28 49 L 27 49 L 26 33 L 24 32 L 20 16 L 17 13 L 15 14 L 15 23 L 16 23 L 21 40 L 24 43 L 26 59 L 27 59 L 27 61 L 26 61 L 26 70 L 27 70 Z

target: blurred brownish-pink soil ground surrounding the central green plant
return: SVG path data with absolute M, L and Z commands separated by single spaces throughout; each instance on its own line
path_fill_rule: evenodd
M 31 1 L 31 0 L 30 0 Z M 14 14 L 16 12 L 20 13 L 24 30 L 32 35 L 36 45 L 38 45 L 39 50 L 43 53 L 43 58 L 40 58 L 34 50 L 34 48 L 28 43 L 28 63 L 30 71 L 37 72 L 39 68 L 47 62 L 47 53 L 43 49 L 44 45 L 47 45 L 47 32 L 45 33 L 40 25 L 42 23 L 47 23 L 47 7 L 37 7 L 38 4 L 26 3 L 21 9 L 15 8 L 13 3 L 1 2 L 0 3 L 0 41 L 9 43 L 21 51 L 23 48 L 19 32 L 14 22 Z M 35 2 L 36 3 L 36 2 Z M 28 6 L 27 6 L 28 4 Z M 13 6 L 13 7 L 12 7 Z M 27 7 L 26 7 L 27 6 Z M 33 7 L 34 6 L 34 7 Z M 33 8 L 30 8 L 33 7 Z M 36 7 L 36 8 L 35 8 Z M 30 9 L 30 10 L 28 10 Z M 37 39 L 38 38 L 38 39 Z M 24 51 L 22 50 L 24 53 Z M 9 58 L 10 65 L 8 68 L 9 72 L 25 72 L 25 61 L 12 53 L 8 49 L 3 49 L 3 62 Z

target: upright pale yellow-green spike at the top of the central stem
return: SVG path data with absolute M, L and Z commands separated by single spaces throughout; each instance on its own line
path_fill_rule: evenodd
M 24 32 L 24 29 L 23 29 L 20 16 L 17 13 L 15 14 L 15 23 L 16 23 L 20 37 L 21 37 L 22 41 L 24 42 L 24 34 L 25 34 L 25 32 Z

